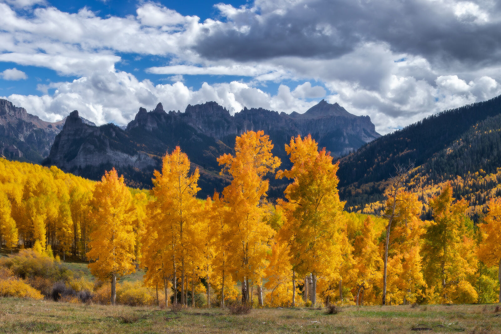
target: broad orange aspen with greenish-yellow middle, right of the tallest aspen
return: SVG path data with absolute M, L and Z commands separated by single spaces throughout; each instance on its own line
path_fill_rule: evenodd
M 302 277 L 311 274 L 310 299 L 315 304 L 317 279 L 339 279 L 345 218 L 337 190 L 338 164 L 332 163 L 325 148 L 318 151 L 310 135 L 291 139 L 285 150 L 293 167 L 279 171 L 277 178 L 287 177 L 293 183 L 285 190 L 286 200 L 279 200 L 285 216 L 282 228 L 291 235 L 290 257 L 295 272 Z

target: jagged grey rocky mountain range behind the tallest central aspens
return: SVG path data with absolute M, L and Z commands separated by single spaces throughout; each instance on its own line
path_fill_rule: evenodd
M 159 103 L 150 112 L 140 108 L 125 129 L 113 124 L 88 125 L 77 111 L 72 112 L 44 165 L 56 165 L 90 179 L 98 179 L 105 170 L 116 167 L 128 185 L 150 187 L 153 170 L 160 168 L 162 156 L 179 145 L 192 167 L 199 167 L 199 196 L 204 197 L 229 183 L 227 176 L 219 175 L 216 159 L 232 153 L 236 136 L 247 130 L 264 130 L 270 136 L 273 154 L 282 159 L 281 168 L 290 165 L 284 145 L 297 135 L 311 134 L 335 157 L 380 137 L 368 116 L 352 115 L 337 103 L 324 100 L 304 114 L 244 108 L 234 116 L 215 102 L 188 105 L 184 113 L 165 112 Z M 271 197 L 282 196 L 285 182 L 271 179 Z

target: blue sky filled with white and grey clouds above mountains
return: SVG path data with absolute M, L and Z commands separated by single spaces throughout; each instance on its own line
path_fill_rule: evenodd
M 325 99 L 386 134 L 501 94 L 496 0 L 0 0 L 0 13 L 0 98 L 47 121 Z

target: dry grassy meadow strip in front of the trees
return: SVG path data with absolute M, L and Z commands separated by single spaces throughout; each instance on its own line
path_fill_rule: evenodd
M 352 306 L 335 315 L 323 309 L 253 309 L 231 315 L 219 308 L 175 313 L 157 307 L 0 298 L 0 333 L 501 333 L 501 312 L 494 312 L 495 306 Z

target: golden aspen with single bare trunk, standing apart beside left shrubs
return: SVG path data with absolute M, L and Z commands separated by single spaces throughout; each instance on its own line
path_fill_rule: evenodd
M 117 278 L 135 270 L 132 196 L 115 168 L 96 183 L 90 205 L 94 228 L 88 266 L 94 276 L 111 281 L 111 304 L 115 305 Z

